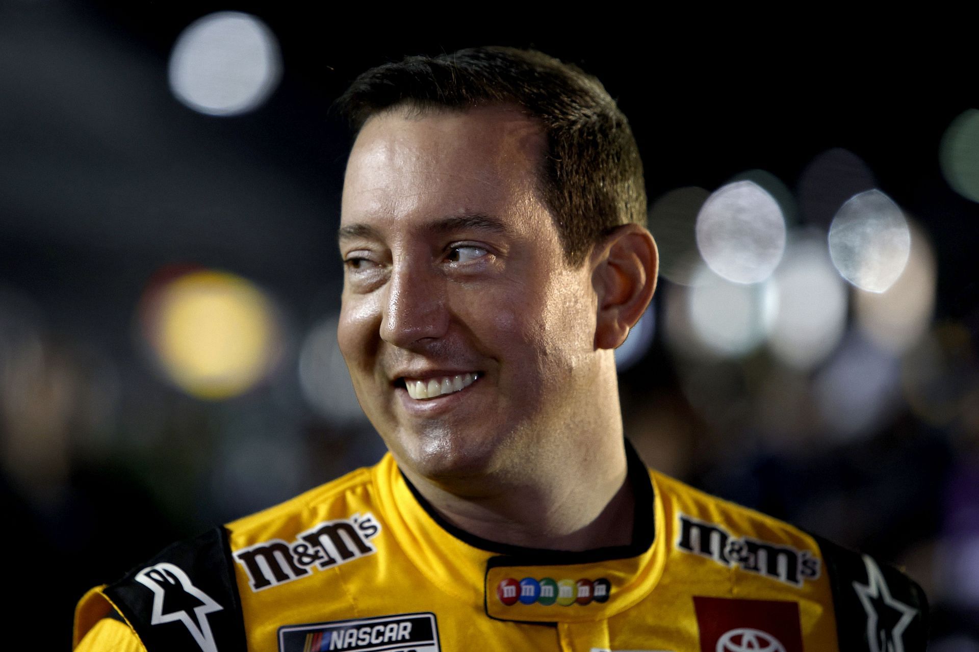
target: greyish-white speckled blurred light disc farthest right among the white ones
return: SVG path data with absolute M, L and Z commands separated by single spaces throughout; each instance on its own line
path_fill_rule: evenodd
M 850 198 L 829 227 L 829 255 L 843 278 L 867 292 L 890 288 L 908 263 L 904 212 L 879 190 Z

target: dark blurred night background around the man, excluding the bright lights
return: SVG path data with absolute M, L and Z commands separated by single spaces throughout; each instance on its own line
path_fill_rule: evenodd
M 979 206 L 938 156 L 979 105 L 967 58 L 842 19 L 803 38 L 665 15 L 624 30 L 406 12 L 391 26 L 287 4 L 0 2 L 0 500 L 19 626 L 67 644 L 91 585 L 380 457 L 369 424 L 311 406 L 297 372 L 306 334 L 339 309 L 350 136 L 330 106 L 371 66 L 496 43 L 604 82 L 651 204 L 750 169 L 799 197 L 808 166 L 845 148 L 913 216 L 936 303 L 925 344 L 888 358 L 893 393 L 872 427 L 823 436 L 806 410 L 772 421 L 772 383 L 809 401 L 829 361 L 789 373 L 764 347 L 690 361 L 658 329 L 621 376 L 627 432 L 652 466 L 904 566 L 934 603 L 934 649 L 979 649 Z M 270 27 L 283 77 L 256 111 L 205 116 L 170 93 L 167 60 L 188 24 L 227 9 Z M 182 265 L 238 274 L 277 306 L 281 355 L 241 396 L 188 396 L 154 366 L 139 306 Z M 675 290 L 661 283 L 658 324 Z M 860 338 L 850 309 L 845 344 Z M 921 359 L 924 399 L 907 382 Z

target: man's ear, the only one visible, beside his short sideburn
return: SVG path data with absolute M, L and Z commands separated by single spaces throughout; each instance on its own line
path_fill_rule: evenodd
M 625 224 L 595 247 L 590 263 L 598 297 L 595 348 L 616 349 L 653 298 L 659 265 L 656 243 L 643 227 Z

